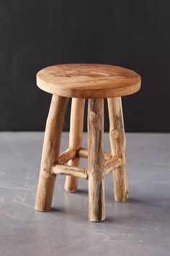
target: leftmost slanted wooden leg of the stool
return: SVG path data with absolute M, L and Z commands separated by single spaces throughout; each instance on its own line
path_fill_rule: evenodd
M 61 133 L 67 103 L 68 98 L 53 95 L 45 127 L 40 178 L 35 202 L 36 210 L 48 211 L 51 208 L 53 190 L 55 186 L 55 174 L 51 174 L 50 170 L 53 163 L 58 161 L 58 154 L 61 145 Z

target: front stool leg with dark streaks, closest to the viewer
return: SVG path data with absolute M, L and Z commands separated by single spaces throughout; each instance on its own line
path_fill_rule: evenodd
M 89 220 L 103 221 L 104 206 L 104 100 L 88 104 Z

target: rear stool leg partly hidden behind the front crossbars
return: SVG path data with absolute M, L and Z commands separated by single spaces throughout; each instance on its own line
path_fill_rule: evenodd
M 84 129 L 84 103 L 82 98 L 72 98 L 71 103 L 71 124 L 70 124 L 70 141 L 69 148 L 79 150 Z M 79 166 L 80 158 L 74 158 L 68 161 L 69 166 Z M 65 189 L 68 192 L 76 191 L 78 187 L 79 178 L 73 176 L 66 176 Z

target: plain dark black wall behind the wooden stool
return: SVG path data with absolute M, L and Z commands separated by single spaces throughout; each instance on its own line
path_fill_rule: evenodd
M 0 129 L 45 129 L 51 95 L 35 74 L 72 62 L 134 69 L 143 82 L 122 98 L 126 131 L 170 132 L 169 9 L 169 0 L 0 1 Z

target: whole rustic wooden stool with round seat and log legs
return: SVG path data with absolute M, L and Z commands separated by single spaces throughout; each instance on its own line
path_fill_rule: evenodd
M 55 176 L 63 174 L 69 192 L 76 191 L 79 178 L 89 180 L 89 220 L 103 221 L 105 175 L 113 171 L 115 201 L 128 199 L 121 96 L 140 89 L 140 76 L 112 65 L 61 64 L 40 70 L 37 85 L 52 93 L 53 98 L 45 128 L 35 209 L 50 210 Z M 68 98 L 73 98 L 70 141 L 68 149 L 59 155 Z M 81 148 L 86 98 L 89 99 L 87 149 Z M 104 153 L 104 98 L 108 98 L 111 153 Z M 79 167 L 80 158 L 88 158 L 88 168 Z

